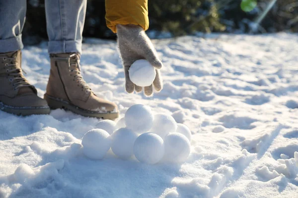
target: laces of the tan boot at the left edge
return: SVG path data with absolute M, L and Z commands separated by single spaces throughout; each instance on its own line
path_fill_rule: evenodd
M 9 76 L 9 81 L 12 83 L 14 90 L 20 89 L 22 87 L 32 86 L 26 81 L 26 79 L 22 75 L 22 69 L 20 67 L 17 67 L 18 62 L 16 61 L 16 57 L 0 56 L 0 59 L 4 61 L 8 60 L 8 62 L 10 62 L 10 63 L 5 63 L 5 68 L 6 68 L 6 74 Z M 2 76 L 3 75 L 5 74 L 2 74 Z

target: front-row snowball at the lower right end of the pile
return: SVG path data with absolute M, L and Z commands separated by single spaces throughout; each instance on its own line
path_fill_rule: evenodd
M 190 142 L 181 133 L 171 133 L 164 139 L 164 160 L 184 162 L 190 153 Z

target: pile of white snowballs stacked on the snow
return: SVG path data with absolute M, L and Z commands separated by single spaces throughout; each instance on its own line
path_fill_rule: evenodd
M 135 104 L 117 123 L 99 121 L 84 135 L 82 145 L 91 159 L 102 159 L 111 148 L 119 158 L 135 155 L 140 162 L 155 164 L 184 162 L 190 154 L 190 141 L 189 128 L 177 124 L 171 115 L 153 115 L 149 106 Z

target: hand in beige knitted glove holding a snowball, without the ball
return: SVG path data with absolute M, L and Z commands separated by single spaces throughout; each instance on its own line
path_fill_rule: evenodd
M 125 89 L 128 93 L 142 92 L 142 87 L 135 85 L 129 78 L 128 70 L 130 66 L 140 59 L 146 59 L 156 70 L 156 76 L 153 84 L 145 87 L 144 92 L 146 96 L 153 94 L 153 87 L 156 92 L 162 89 L 162 80 L 159 69 L 162 67 L 162 62 L 158 58 L 157 53 L 151 43 L 149 37 L 146 35 L 144 29 L 138 25 L 117 25 L 118 47 L 120 56 L 123 61 L 125 73 Z

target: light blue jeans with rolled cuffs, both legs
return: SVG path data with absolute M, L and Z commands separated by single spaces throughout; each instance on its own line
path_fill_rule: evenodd
M 81 53 L 87 0 L 45 0 L 49 53 Z M 23 48 L 26 0 L 0 0 L 0 53 Z

